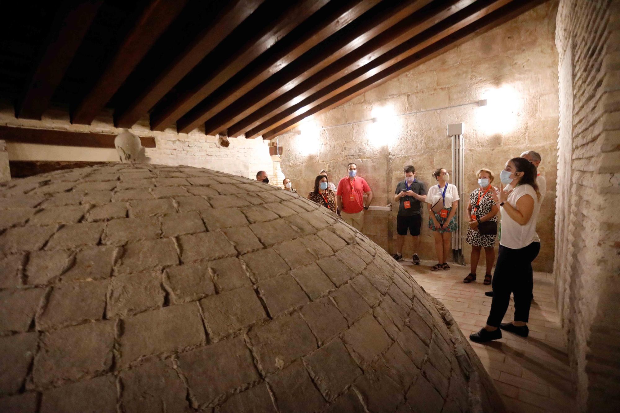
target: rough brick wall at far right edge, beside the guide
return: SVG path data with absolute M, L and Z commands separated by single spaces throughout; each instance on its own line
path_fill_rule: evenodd
M 620 1 L 560 1 L 556 293 L 582 411 L 620 409 Z

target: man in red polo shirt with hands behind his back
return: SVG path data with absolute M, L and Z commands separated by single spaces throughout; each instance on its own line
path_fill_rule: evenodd
M 347 165 L 348 176 L 340 179 L 338 191 L 336 192 L 336 202 L 340 210 L 340 216 L 353 228 L 361 231 L 364 226 L 364 210 L 370 207 L 373 200 L 373 192 L 366 183 L 366 180 L 357 176 L 357 165 L 351 162 Z M 364 205 L 363 195 L 368 195 L 366 205 Z

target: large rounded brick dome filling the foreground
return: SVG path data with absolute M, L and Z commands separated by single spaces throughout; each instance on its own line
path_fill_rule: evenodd
M 0 187 L 0 354 L 3 412 L 503 408 L 381 247 L 298 195 L 192 167 Z

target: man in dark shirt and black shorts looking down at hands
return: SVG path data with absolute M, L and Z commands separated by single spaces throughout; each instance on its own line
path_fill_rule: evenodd
M 396 216 L 396 254 L 394 259 L 402 260 L 402 247 L 405 244 L 407 229 L 414 241 L 414 255 L 412 261 L 420 264 L 418 248 L 420 247 L 420 226 L 422 226 L 422 202 L 426 201 L 426 187 L 423 182 L 415 179 L 415 167 L 407 165 L 404 169 L 405 180 L 396 185 L 394 202 L 399 201 L 398 215 Z

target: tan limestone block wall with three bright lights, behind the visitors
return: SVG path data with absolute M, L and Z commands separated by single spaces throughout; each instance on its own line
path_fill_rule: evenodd
M 322 168 L 337 181 L 345 175 L 347 163 L 355 161 L 358 173 L 373 189 L 374 205 L 386 205 L 404 165 L 414 164 L 418 179 L 427 184 L 433 183 L 436 168 L 451 169 L 446 125 L 463 122 L 467 199 L 477 187 L 474 174 L 481 167 L 498 174 L 508 159 L 526 149 L 542 154 L 547 193 L 539 218 L 542 249 L 534 267 L 551 272 L 558 122 L 556 7 L 555 2 L 536 7 L 317 115 L 301 125 L 301 135 L 280 136 L 282 171 L 299 193 L 307 193 Z M 489 105 L 478 107 L 480 99 L 488 99 Z M 418 113 L 383 120 L 386 114 L 409 112 Z M 373 117 L 379 122 L 360 122 Z M 352 124 L 334 126 L 343 123 Z M 389 252 L 396 247 L 396 212 L 366 215 L 365 234 Z M 424 223 L 427 218 L 425 211 Z M 425 227 L 422 259 L 435 259 L 432 234 Z M 412 253 L 409 248 L 405 244 L 407 255 Z M 466 259 L 469 252 L 467 248 Z

